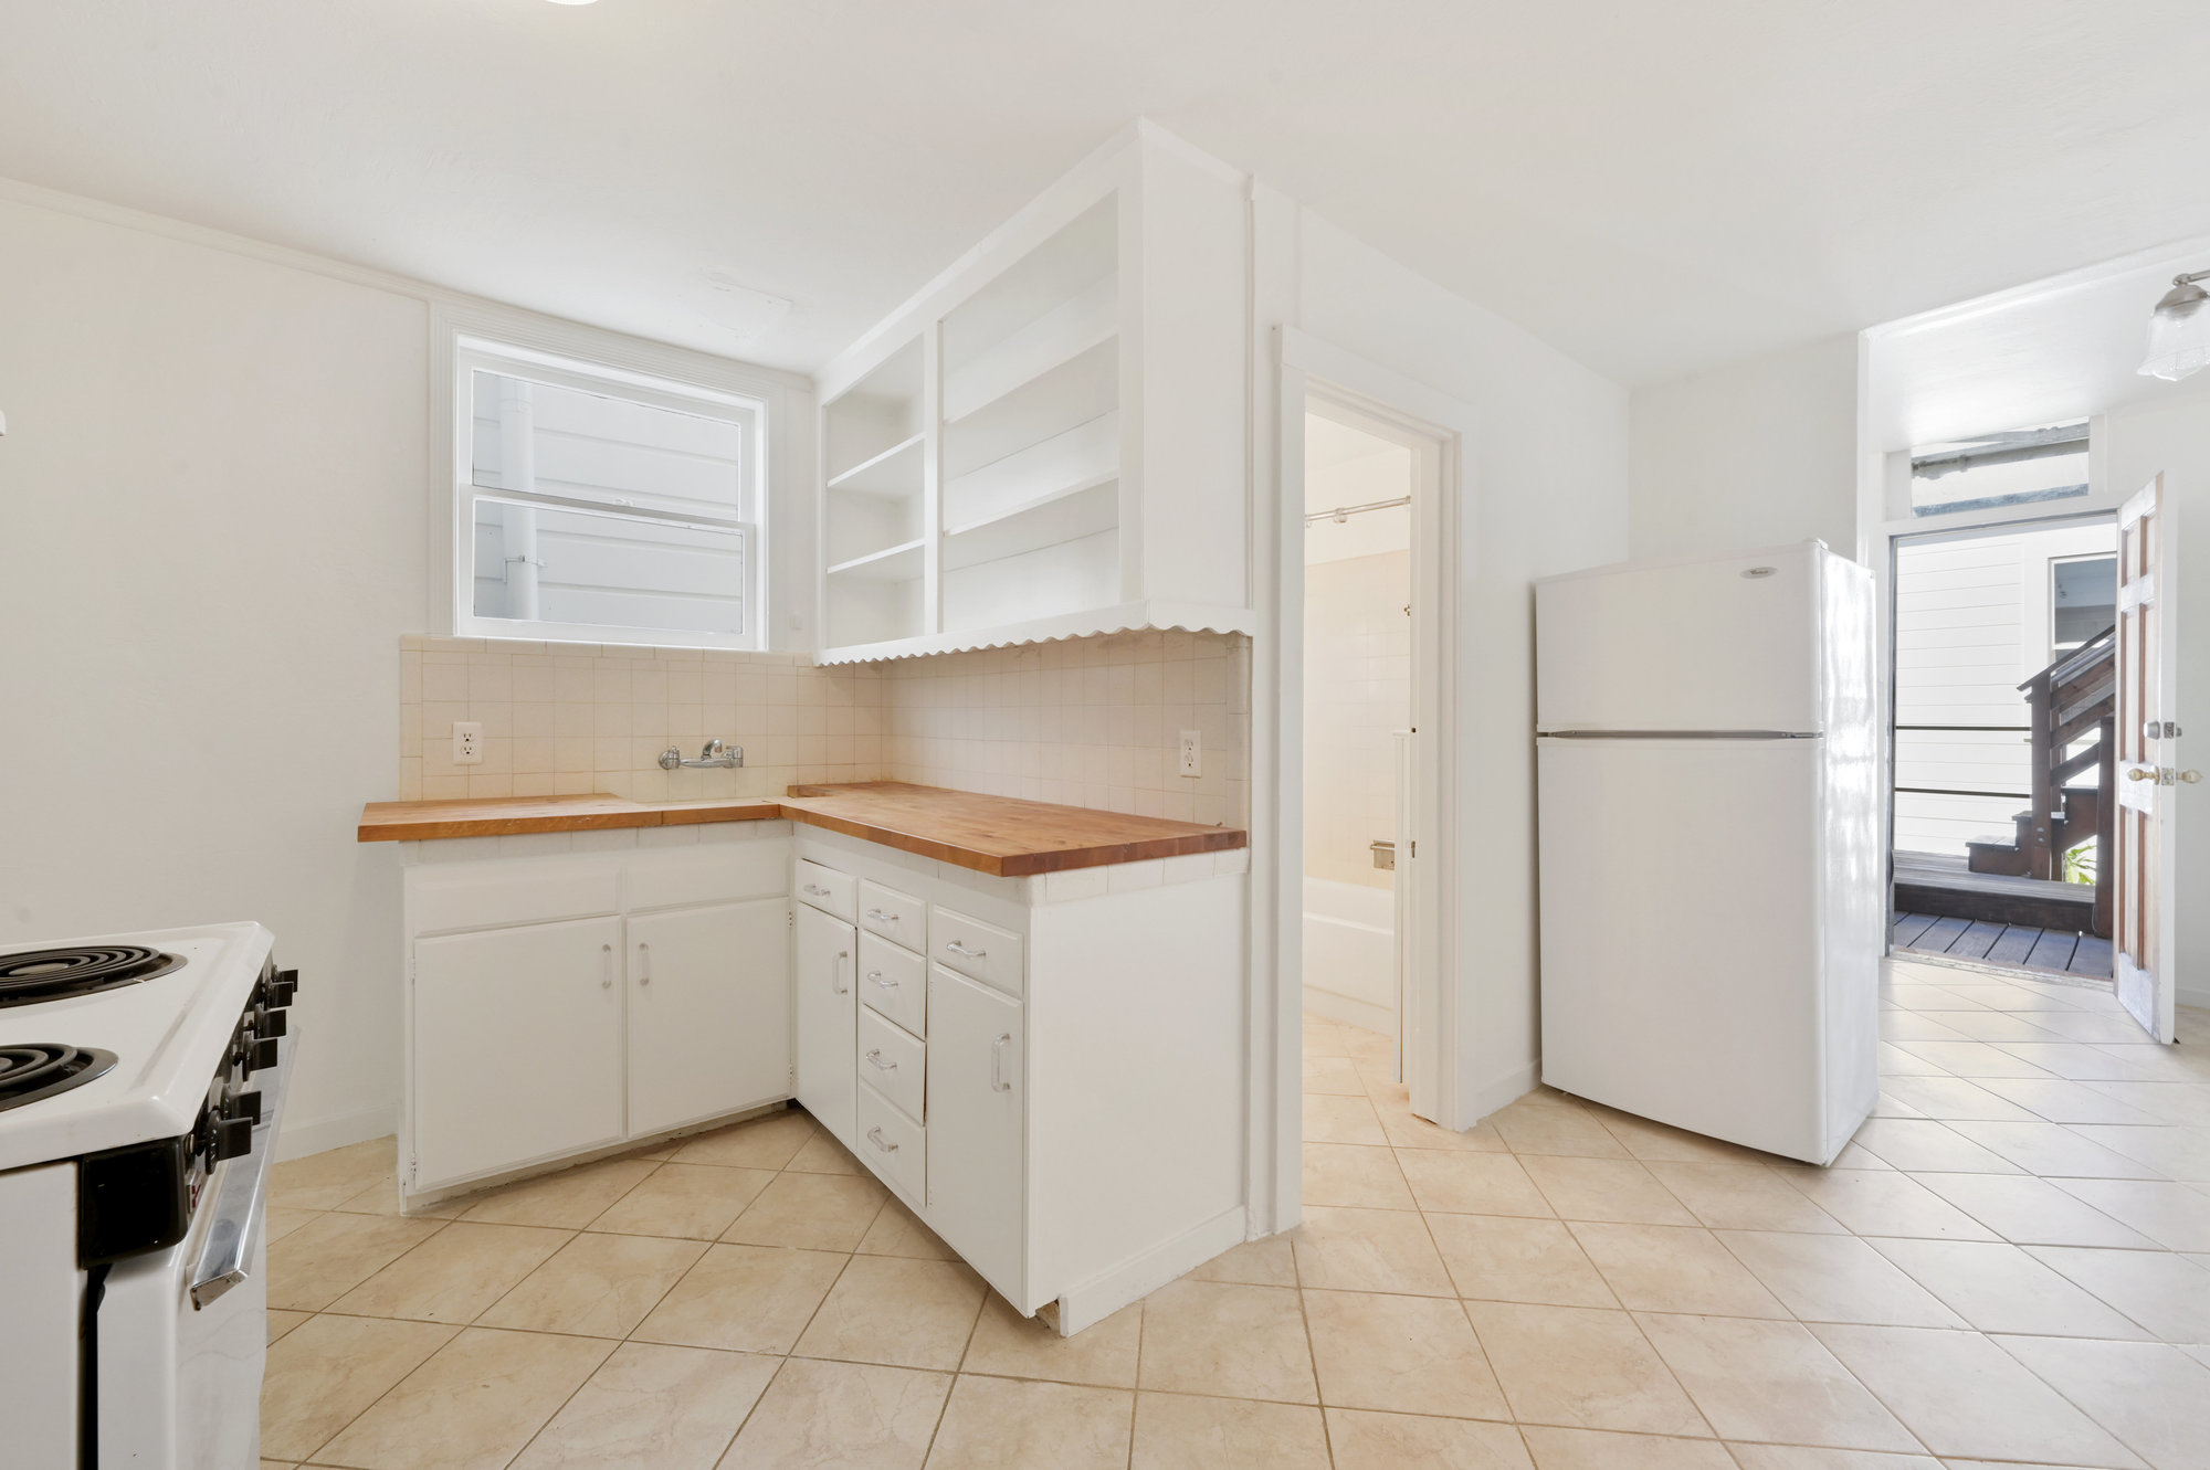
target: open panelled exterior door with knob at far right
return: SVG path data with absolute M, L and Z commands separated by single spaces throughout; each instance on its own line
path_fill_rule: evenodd
M 2172 1040 L 2179 770 L 2179 620 L 2172 503 L 2164 477 L 2117 512 L 2117 830 L 2111 863 L 2117 1000 L 2157 1037 Z

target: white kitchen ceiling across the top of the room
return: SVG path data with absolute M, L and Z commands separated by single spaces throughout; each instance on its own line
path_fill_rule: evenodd
M 1136 115 L 1651 382 L 2210 234 L 2199 0 L 0 0 L 0 177 L 813 366 Z M 707 274 L 793 302 L 743 340 Z

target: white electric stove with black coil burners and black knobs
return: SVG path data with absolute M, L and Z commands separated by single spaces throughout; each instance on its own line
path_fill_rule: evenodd
M 0 1459 L 259 1463 L 294 971 L 261 925 L 0 951 Z

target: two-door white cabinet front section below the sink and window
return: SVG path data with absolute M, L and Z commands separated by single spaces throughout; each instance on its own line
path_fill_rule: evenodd
M 791 1095 L 791 843 L 745 837 L 409 861 L 404 1201 Z

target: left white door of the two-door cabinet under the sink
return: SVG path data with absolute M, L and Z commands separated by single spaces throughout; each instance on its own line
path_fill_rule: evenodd
M 415 1187 L 614 1143 L 621 920 L 415 940 Z

